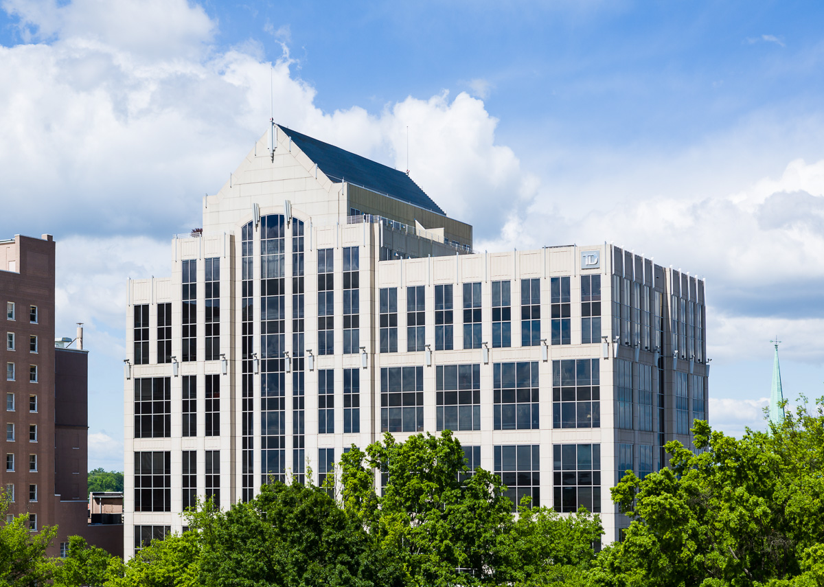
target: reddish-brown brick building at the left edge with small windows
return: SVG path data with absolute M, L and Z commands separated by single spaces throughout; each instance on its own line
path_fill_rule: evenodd
M 49 555 L 68 537 L 121 554 L 122 525 L 87 526 L 88 351 L 54 337 L 54 240 L 0 241 L 0 397 L 5 402 L 7 519 L 26 513 L 31 530 L 58 525 Z

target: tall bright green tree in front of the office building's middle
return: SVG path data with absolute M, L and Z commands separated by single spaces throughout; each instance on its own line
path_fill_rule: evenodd
M 391 434 L 341 460 L 344 509 L 403 565 L 411 585 L 538 585 L 592 563 L 600 519 L 530 509 L 516 521 L 499 477 L 466 467 L 445 430 L 396 443 Z M 382 470 L 382 495 L 374 471 Z M 561 567 L 566 567 L 563 573 Z

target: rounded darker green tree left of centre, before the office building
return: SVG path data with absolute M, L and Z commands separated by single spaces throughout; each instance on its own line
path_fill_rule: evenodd
M 199 585 L 402 585 L 400 569 L 322 488 L 275 482 L 225 512 L 190 513 Z

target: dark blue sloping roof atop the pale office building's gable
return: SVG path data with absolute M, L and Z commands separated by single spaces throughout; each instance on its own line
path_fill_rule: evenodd
M 329 143 L 312 139 L 292 129 L 284 129 L 283 126 L 279 126 L 279 129 L 283 130 L 293 140 L 293 143 L 297 144 L 297 147 L 306 153 L 311 161 L 316 162 L 317 167 L 330 178 L 363 185 L 391 195 L 396 200 L 444 214 L 438 204 L 435 204 L 424 190 L 421 190 L 419 185 L 403 171 L 386 167 L 386 165 L 349 153 Z

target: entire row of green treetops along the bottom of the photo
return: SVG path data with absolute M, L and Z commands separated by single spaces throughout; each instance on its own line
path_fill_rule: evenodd
M 597 515 L 528 498 L 513 515 L 499 477 L 471 471 L 450 432 L 386 434 L 344 453 L 324 487 L 201 503 L 190 532 L 125 563 L 77 537 L 49 560 L 54 528 L 32 533 L 19 516 L 0 527 L 0 585 L 824 586 L 824 398 L 742 439 L 700 421 L 693 434 L 695 452 L 669 443 L 671 468 L 612 490 L 631 524 L 598 554 Z

